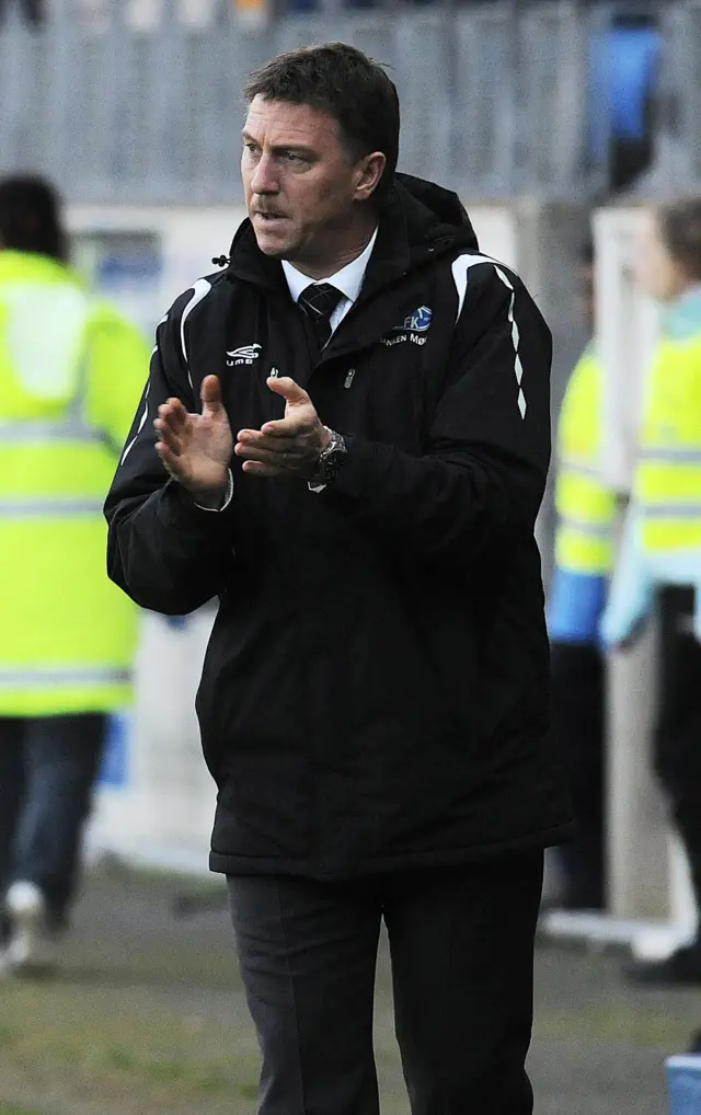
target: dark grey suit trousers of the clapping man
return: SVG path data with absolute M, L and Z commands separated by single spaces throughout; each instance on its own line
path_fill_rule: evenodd
M 543 853 L 338 883 L 230 878 L 260 1115 L 378 1115 L 381 920 L 412 1115 L 532 1115 Z

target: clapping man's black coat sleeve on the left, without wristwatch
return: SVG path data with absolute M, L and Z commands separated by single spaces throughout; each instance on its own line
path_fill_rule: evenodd
M 174 396 L 198 409 L 177 308 L 158 326 L 148 381 L 105 504 L 109 576 L 142 608 L 166 615 L 187 614 L 215 597 L 233 564 L 228 514 L 198 507 L 169 479 L 155 448 L 159 404 Z

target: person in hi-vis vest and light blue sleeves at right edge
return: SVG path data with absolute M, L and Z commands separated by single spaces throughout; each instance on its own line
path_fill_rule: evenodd
M 660 619 L 654 757 L 701 909 L 701 200 L 646 222 L 639 279 L 663 307 L 644 391 L 637 462 L 602 633 L 631 644 Z M 642 760 L 642 756 L 641 756 Z M 701 983 L 701 935 L 631 979 Z

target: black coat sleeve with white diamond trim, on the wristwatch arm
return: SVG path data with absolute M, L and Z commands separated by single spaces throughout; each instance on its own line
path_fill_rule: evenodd
M 469 280 L 423 455 L 349 437 L 322 493 L 376 536 L 451 566 L 533 532 L 551 449 L 549 330 L 512 272 L 485 263 Z

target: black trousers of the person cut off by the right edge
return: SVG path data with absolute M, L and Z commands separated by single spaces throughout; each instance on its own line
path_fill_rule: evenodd
M 701 644 L 693 634 L 694 591 L 662 589 L 655 770 L 666 791 L 701 912 Z

